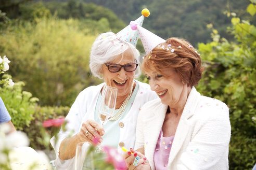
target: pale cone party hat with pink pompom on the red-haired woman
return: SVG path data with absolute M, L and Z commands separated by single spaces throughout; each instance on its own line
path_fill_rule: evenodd
M 160 43 L 165 42 L 165 40 L 156 34 L 144 29 L 144 27 L 136 24 L 136 22 L 131 21 L 130 26 L 132 30 L 137 30 L 140 40 L 142 40 L 143 47 L 146 54 L 149 53 L 153 48 L 155 48 Z

